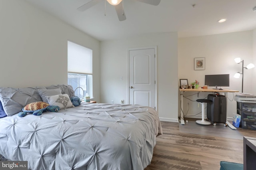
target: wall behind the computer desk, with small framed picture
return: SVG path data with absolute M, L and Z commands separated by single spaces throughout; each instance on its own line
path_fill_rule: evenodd
M 244 67 L 253 61 L 252 57 L 252 31 L 217 34 L 210 36 L 198 36 L 191 38 L 179 38 L 178 40 L 178 78 L 188 79 L 189 83 L 198 80 L 204 85 L 204 75 L 207 74 L 230 74 L 230 87 L 232 90 L 242 91 L 242 78 L 235 79 L 236 72 L 242 73 L 242 63 L 237 64 L 234 58 L 244 59 Z M 205 70 L 194 70 L 194 58 L 205 57 Z M 254 64 L 255 59 L 254 59 Z M 252 84 L 254 69 L 244 69 L 244 93 L 253 93 L 255 86 Z M 176 87 L 179 86 L 179 82 Z M 186 95 L 194 93 L 187 92 Z M 193 101 L 203 99 L 209 93 L 200 93 L 199 96 L 189 97 Z M 235 94 L 234 94 L 235 95 Z M 179 97 L 180 100 L 180 97 Z M 197 102 L 184 100 L 184 112 L 187 115 L 200 113 L 201 106 Z M 189 105 L 188 105 L 189 103 Z M 236 113 L 236 101 L 233 94 L 228 93 L 227 117 Z M 180 114 L 180 111 L 179 111 Z M 199 114 L 197 117 L 200 117 Z

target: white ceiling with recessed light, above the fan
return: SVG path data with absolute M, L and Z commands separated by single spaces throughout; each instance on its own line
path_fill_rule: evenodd
M 121 22 L 108 2 L 104 16 L 104 0 L 84 12 L 77 8 L 90 0 L 26 1 L 100 41 L 157 32 L 189 37 L 256 28 L 256 0 L 161 0 L 158 6 L 124 0 L 126 20 Z M 227 21 L 218 23 L 222 18 Z

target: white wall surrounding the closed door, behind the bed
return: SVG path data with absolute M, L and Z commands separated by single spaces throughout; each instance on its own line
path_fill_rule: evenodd
M 128 49 L 157 46 L 158 113 L 162 120 L 178 119 L 177 33 L 159 33 L 101 42 L 101 102 L 128 98 Z M 120 80 L 123 77 L 123 80 Z

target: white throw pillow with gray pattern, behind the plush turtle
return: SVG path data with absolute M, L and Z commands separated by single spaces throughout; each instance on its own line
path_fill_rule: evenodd
M 67 94 L 64 95 L 54 95 L 54 96 L 46 96 L 48 103 L 50 105 L 55 105 L 60 107 L 60 109 L 66 109 L 68 107 L 74 107 L 69 96 Z

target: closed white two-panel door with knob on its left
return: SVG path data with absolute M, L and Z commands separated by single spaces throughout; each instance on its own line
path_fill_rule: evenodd
M 155 49 L 129 50 L 130 104 L 156 108 L 155 80 Z

